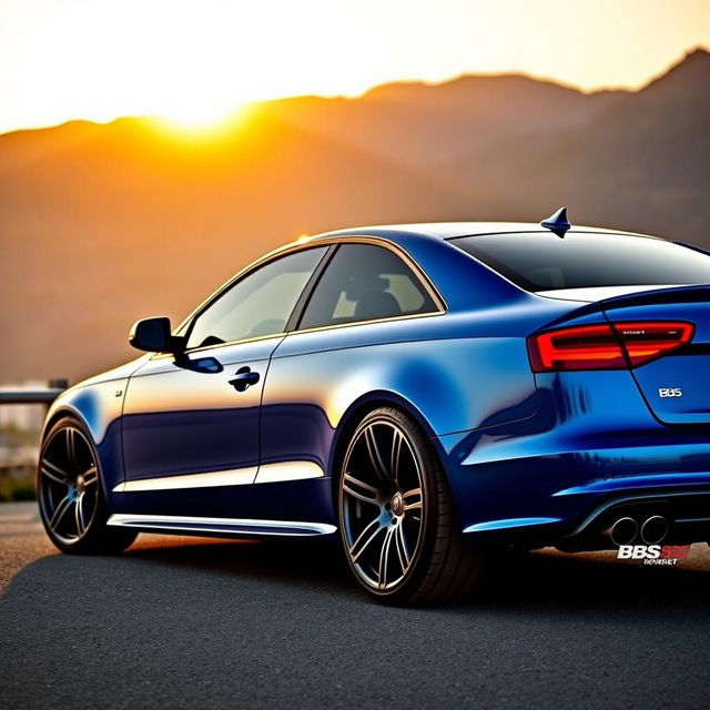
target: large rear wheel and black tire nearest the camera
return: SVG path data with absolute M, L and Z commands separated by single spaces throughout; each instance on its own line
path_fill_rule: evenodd
M 476 587 L 484 554 L 464 541 L 436 452 L 408 416 L 392 407 L 367 414 L 337 485 L 345 557 L 373 598 L 423 605 L 462 599 Z

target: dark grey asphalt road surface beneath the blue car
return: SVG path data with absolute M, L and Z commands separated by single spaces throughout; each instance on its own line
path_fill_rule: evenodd
M 541 551 L 483 598 L 392 609 L 336 548 L 141 536 L 60 555 L 0 505 L 0 708 L 710 707 L 710 550 Z

